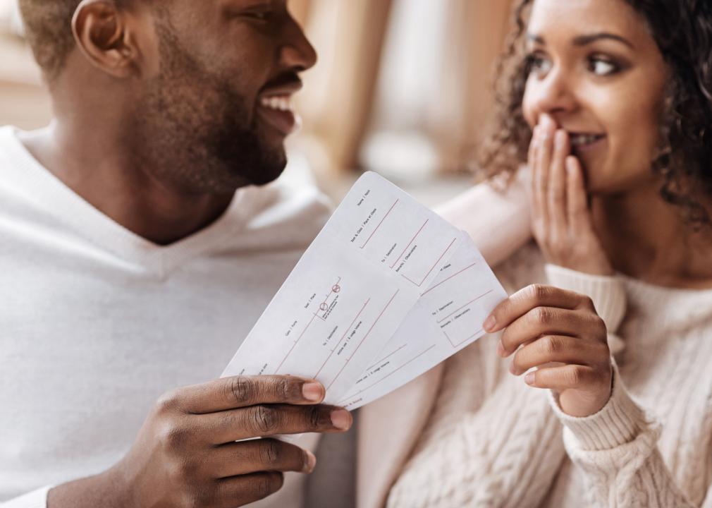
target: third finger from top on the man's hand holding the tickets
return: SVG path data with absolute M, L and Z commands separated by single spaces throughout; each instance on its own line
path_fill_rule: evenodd
M 308 450 L 276 439 L 230 442 L 211 452 L 216 479 L 263 471 L 310 473 L 316 458 Z

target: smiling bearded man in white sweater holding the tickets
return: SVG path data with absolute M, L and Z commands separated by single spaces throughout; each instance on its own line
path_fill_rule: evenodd
M 350 415 L 309 380 L 209 380 L 328 213 L 259 187 L 285 167 L 313 48 L 286 0 L 20 6 L 56 118 L 0 130 L 0 502 L 273 494 L 313 470 L 314 440 L 236 441 Z M 298 478 L 265 506 L 299 506 Z

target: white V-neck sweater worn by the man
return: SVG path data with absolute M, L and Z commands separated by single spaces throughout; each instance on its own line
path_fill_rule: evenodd
M 158 247 L 1 128 L 0 504 L 43 507 L 120 460 L 165 390 L 218 377 L 328 212 L 313 188 L 246 188 Z M 301 480 L 260 506 L 300 506 Z

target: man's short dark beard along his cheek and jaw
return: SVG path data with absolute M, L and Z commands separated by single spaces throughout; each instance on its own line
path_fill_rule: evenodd
M 161 69 L 135 111 L 135 163 L 167 187 L 190 194 L 226 194 L 275 180 L 286 166 L 283 147 L 268 147 L 256 115 L 228 78 L 209 71 L 157 25 Z

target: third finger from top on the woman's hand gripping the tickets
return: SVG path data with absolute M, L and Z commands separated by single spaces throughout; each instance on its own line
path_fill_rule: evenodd
M 582 341 L 570 336 L 547 335 L 520 348 L 512 359 L 510 371 L 514 375 L 521 375 L 530 368 L 546 363 L 591 365 L 592 362 L 607 358 L 608 346 L 604 343 Z

